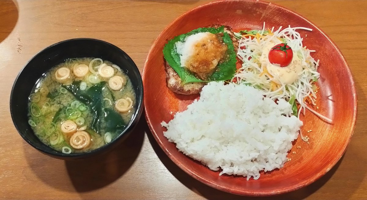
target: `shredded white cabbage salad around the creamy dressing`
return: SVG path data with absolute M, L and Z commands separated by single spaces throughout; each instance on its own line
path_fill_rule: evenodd
M 315 52 L 303 46 L 303 38 L 301 34 L 297 32 L 297 29 L 303 29 L 312 31 L 312 29 L 306 27 L 291 27 L 288 26 L 285 29 L 279 27 L 275 30 L 274 27 L 265 31 L 265 24 L 262 30 L 251 30 L 245 33 L 255 33 L 257 37 L 241 37 L 239 40 L 239 48 L 237 51 L 237 57 L 243 62 L 241 68 L 239 68 L 231 80 L 240 84 L 247 84 L 254 86 L 264 92 L 264 95 L 272 100 L 285 99 L 291 100 L 294 96 L 295 100 L 301 105 L 296 116 L 307 108 L 304 98 L 312 96 L 310 101 L 315 105 L 316 99 L 315 91 L 313 90 L 313 82 L 316 82 L 320 77 L 317 72 L 319 66 L 319 60 L 315 60 L 310 55 L 310 52 Z M 275 30 L 275 31 L 274 31 Z M 274 31 L 274 32 L 273 32 Z M 264 68 L 259 63 L 259 58 L 262 54 L 262 50 L 269 44 L 287 43 L 293 52 L 295 52 L 301 59 L 302 72 L 299 74 L 298 81 L 292 84 L 279 84 L 274 87 L 272 82 L 273 77 L 267 73 L 263 73 Z M 260 76 L 260 74 L 265 74 Z M 297 107 L 296 107 L 297 108 Z

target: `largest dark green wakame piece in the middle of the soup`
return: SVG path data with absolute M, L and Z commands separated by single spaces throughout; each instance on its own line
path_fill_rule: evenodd
M 90 127 L 98 134 L 102 134 L 101 131 L 103 129 L 105 129 L 105 132 L 114 132 L 126 126 L 122 116 L 118 112 L 103 106 L 103 90 L 108 90 L 105 85 L 106 82 L 103 81 L 91 86 L 85 91 L 80 90 L 80 81 L 74 81 L 72 85 L 63 86 L 77 100 L 91 108 L 90 112 L 92 112 L 93 117 Z M 108 93 L 111 95 L 111 98 L 114 98 L 109 90 Z

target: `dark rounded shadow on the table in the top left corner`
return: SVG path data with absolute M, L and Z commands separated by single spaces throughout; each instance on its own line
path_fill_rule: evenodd
M 18 21 L 18 5 L 12 0 L 0 0 L 0 42 L 5 40 Z

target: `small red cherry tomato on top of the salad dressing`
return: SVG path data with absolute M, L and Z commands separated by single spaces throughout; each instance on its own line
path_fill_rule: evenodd
M 293 51 L 287 43 L 275 45 L 269 51 L 269 61 L 272 64 L 280 64 L 280 67 L 288 66 L 293 59 Z

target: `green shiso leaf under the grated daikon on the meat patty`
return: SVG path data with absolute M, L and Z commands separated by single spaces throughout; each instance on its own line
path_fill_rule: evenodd
M 185 67 L 181 66 L 180 55 L 177 53 L 175 45 L 176 42 L 183 42 L 186 37 L 201 32 L 209 32 L 213 34 L 223 33 L 223 42 L 228 46 L 228 50 L 226 52 L 228 54 L 228 59 L 226 59 L 225 62 L 218 64 L 217 70 L 208 78 L 207 81 L 196 78 L 195 75 L 186 70 Z M 219 28 L 199 28 L 190 31 L 189 33 L 179 35 L 168 41 L 163 48 L 163 55 L 168 64 L 170 64 L 170 66 L 177 72 L 183 84 L 189 82 L 225 81 L 233 78 L 233 75 L 236 73 L 236 51 L 229 34 L 224 32 L 224 26 Z

